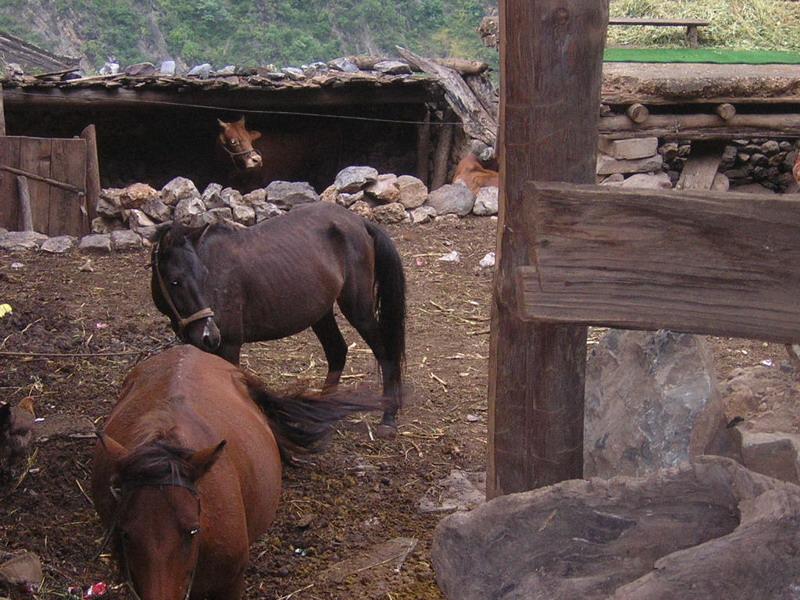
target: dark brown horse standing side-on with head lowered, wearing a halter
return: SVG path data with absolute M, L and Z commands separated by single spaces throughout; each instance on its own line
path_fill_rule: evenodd
M 275 340 L 308 327 L 338 384 L 347 344 L 334 304 L 378 360 L 395 427 L 402 402 L 405 278 L 391 238 L 353 212 L 318 202 L 247 229 L 173 225 L 153 247 L 151 288 L 178 336 L 239 362 L 245 342 Z M 389 433 L 383 429 L 384 433 Z

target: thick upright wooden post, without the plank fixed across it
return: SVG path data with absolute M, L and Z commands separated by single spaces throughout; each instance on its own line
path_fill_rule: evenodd
M 489 362 L 487 496 L 583 475 L 586 328 L 520 319 L 535 262 L 528 180 L 592 183 L 607 2 L 501 0 L 501 203 Z

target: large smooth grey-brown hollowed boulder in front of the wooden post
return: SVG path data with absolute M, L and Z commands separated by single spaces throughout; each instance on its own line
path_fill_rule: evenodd
M 458 600 L 791 598 L 800 488 L 720 457 L 647 479 L 565 481 L 436 527 L 436 581 Z

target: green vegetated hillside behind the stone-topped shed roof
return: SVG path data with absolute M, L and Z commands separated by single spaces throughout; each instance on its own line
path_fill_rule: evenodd
M 171 57 L 188 64 L 299 65 L 356 53 L 394 54 L 404 45 L 431 56 L 497 63 L 476 28 L 492 0 L 5 0 L 0 29 L 58 47 L 60 31 L 38 22 L 68 22 L 80 51 L 96 66 Z M 160 47 L 161 52 L 156 54 Z

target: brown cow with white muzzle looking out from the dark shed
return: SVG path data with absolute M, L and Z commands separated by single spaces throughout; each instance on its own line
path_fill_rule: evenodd
M 273 181 L 308 181 L 317 191 L 335 175 L 341 142 L 335 127 L 313 131 L 248 129 L 245 117 L 217 119 L 217 161 L 228 185 L 247 193 Z

